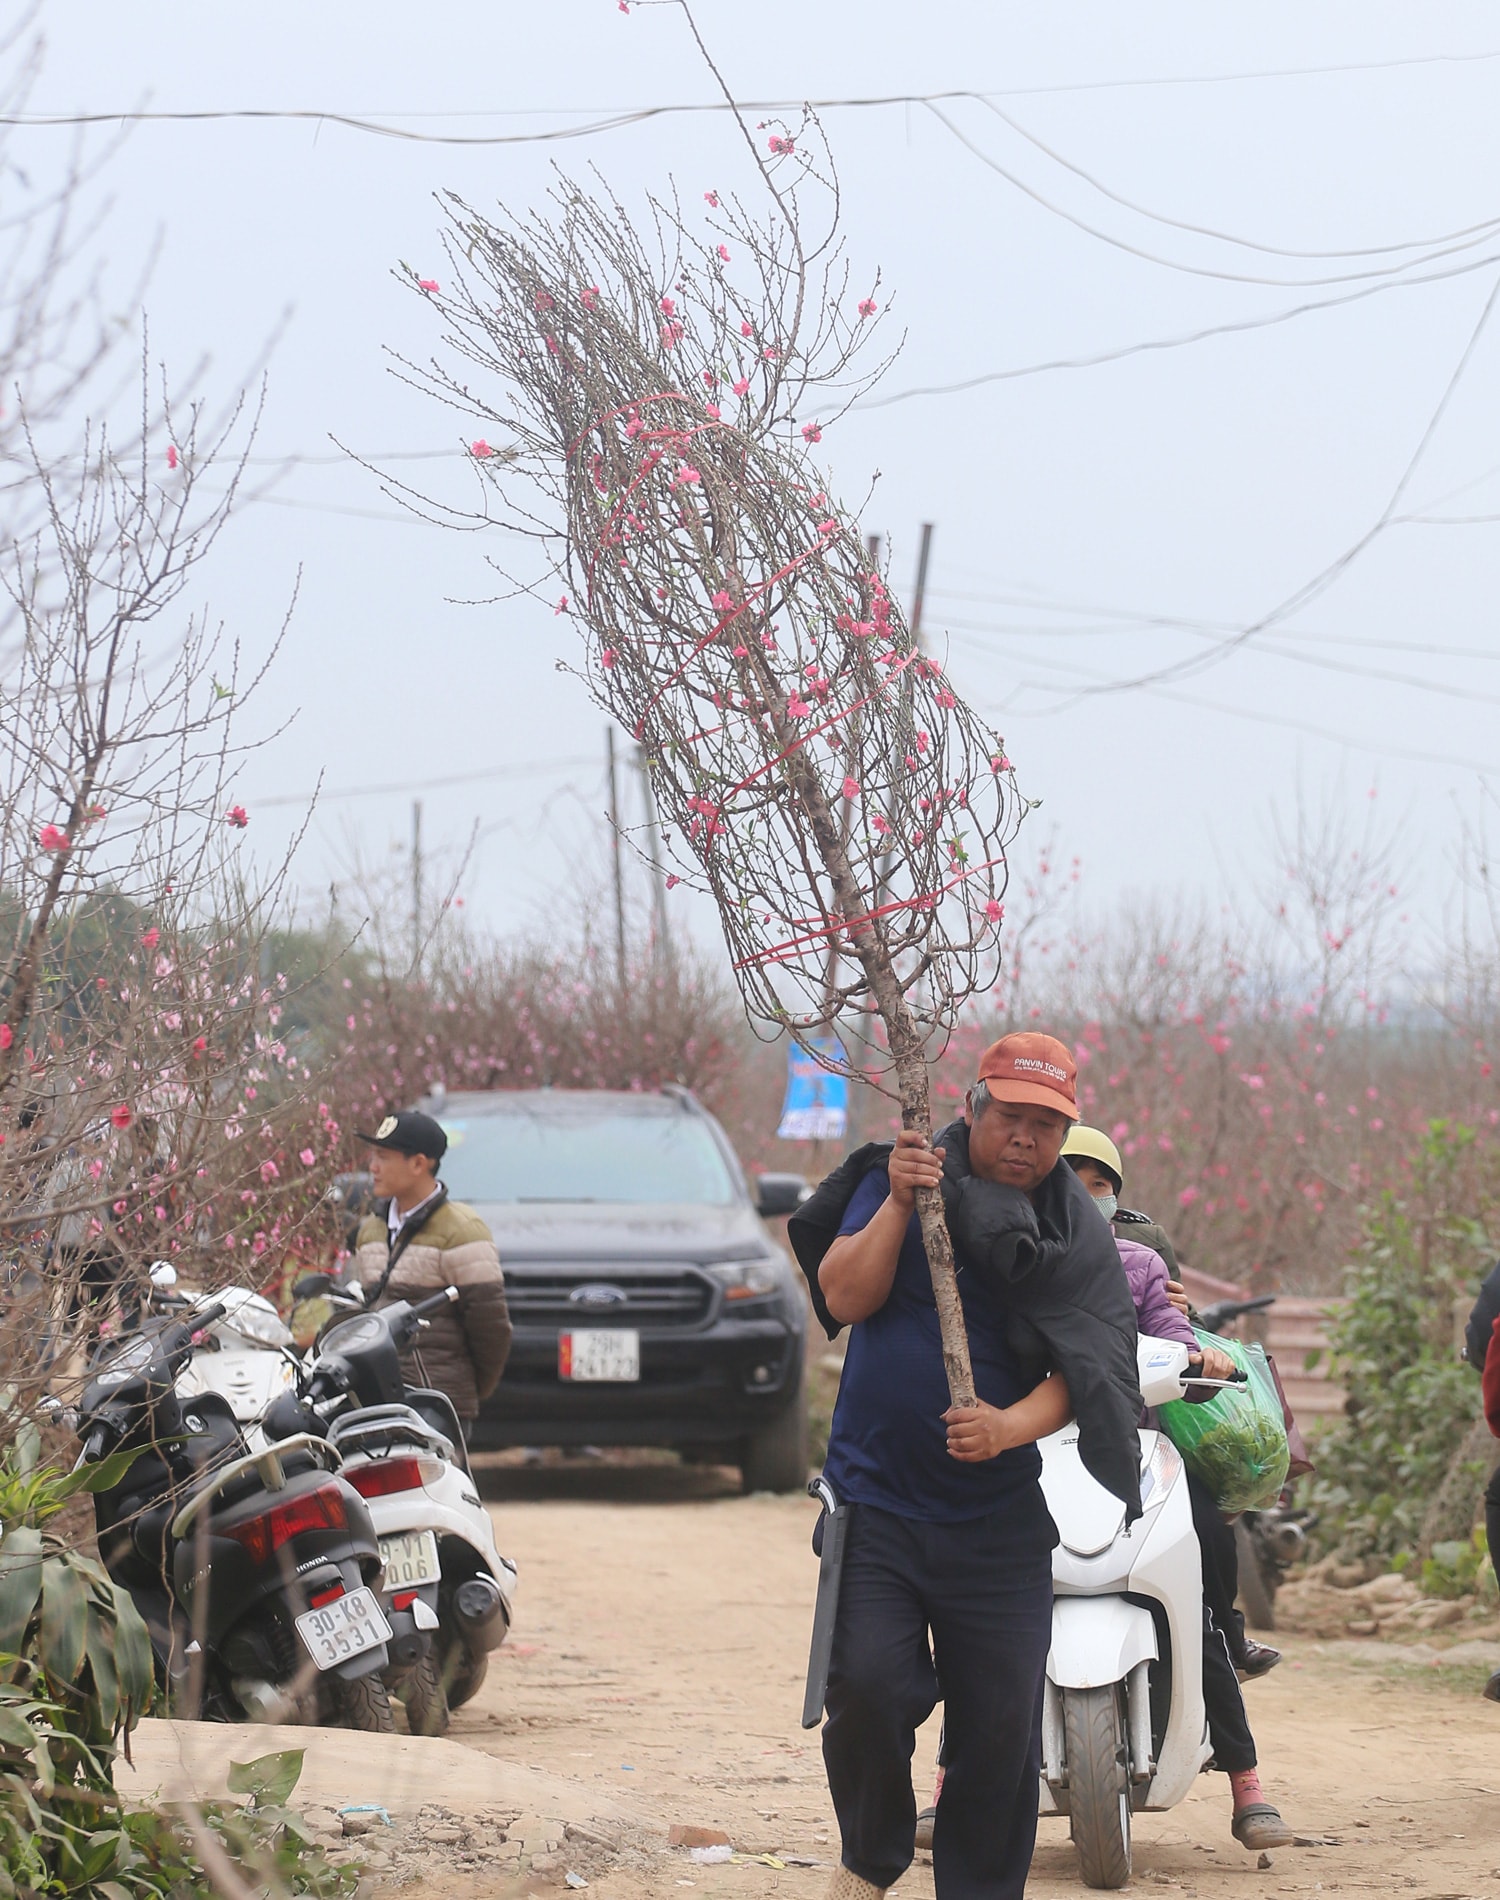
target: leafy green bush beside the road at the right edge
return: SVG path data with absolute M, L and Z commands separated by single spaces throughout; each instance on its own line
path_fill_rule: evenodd
M 1452 1340 L 1456 1303 L 1473 1298 L 1494 1258 L 1462 1167 L 1473 1144 L 1473 1129 L 1432 1123 L 1411 1188 L 1367 1212 L 1348 1303 L 1331 1326 L 1348 1408 L 1319 1433 L 1308 1499 L 1327 1548 L 1386 1560 L 1413 1548 L 1479 1416 L 1479 1379 Z M 1477 1472 L 1475 1505 L 1481 1484 Z

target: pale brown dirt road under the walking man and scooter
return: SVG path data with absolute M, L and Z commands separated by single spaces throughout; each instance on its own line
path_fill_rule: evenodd
M 736 1497 L 726 1474 L 677 1467 L 490 1472 L 487 1492 L 521 1566 L 519 1615 L 452 1738 L 665 1822 L 722 1828 L 743 1854 L 817 1862 L 696 1866 L 679 1852 L 595 1873 L 599 1900 L 819 1894 L 838 1837 L 817 1735 L 797 1720 L 814 1507 Z M 1222 1776 L 1205 1775 L 1175 1813 L 1139 1816 L 1135 1889 L 1500 1896 L 1500 1708 L 1475 1695 L 1483 1670 L 1373 1662 L 1369 1647 L 1291 1640 L 1249 1689 L 1266 1786 L 1314 1845 L 1259 1870 L 1230 1837 Z M 918 1738 L 922 1788 L 935 1738 L 935 1723 Z M 1042 1824 L 1029 1892 L 1046 1900 L 1084 1890 L 1065 1828 Z M 496 1887 L 449 1873 L 405 1892 Z M 926 1900 L 932 1866 L 899 1894 Z

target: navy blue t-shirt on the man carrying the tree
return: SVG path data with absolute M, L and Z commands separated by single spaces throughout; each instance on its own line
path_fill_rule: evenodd
M 838 1231 L 859 1233 L 888 1197 L 890 1180 L 876 1168 L 854 1189 Z M 1030 1387 L 1021 1383 L 1006 1345 L 1004 1302 L 973 1273 L 958 1275 L 958 1298 L 975 1393 L 992 1406 L 1015 1404 Z M 958 1524 L 1017 1503 L 1036 1486 L 1042 1454 L 1025 1444 L 981 1465 L 949 1457 L 949 1404 L 932 1269 L 913 1214 L 886 1303 L 850 1330 L 823 1465 L 835 1492 L 932 1524 Z

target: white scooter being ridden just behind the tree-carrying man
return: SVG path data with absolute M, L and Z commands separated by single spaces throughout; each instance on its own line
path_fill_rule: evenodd
M 1141 1340 L 1146 1406 L 1188 1387 L 1188 1347 Z M 1203 1568 L 1183 1457 L 1141 1433 L 1143 1516 L 1089 1476 L 1078 1427 L 1040 1444 L 1057 1524 L 1051 1651 L 1042 1704 L 1042 1814 L 1067 1814 L 1086 1887 L 1124 1887 L 1131 1814 L 1175 1807 L 1209 1759 L 1203 1714 Z

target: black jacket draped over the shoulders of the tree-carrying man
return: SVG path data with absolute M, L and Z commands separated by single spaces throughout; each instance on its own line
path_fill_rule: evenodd
M 886 1170 L 892 1146 L 856 1148 L 787 1222 L 814 1311 L 831 1340 L 842 1326 L 823 1300 L 817 1267 L 854 1189 L 871 1170 Z M 1122 1499 L 1127 1520 L 1141 1516 L 1135 1302 L 1108 1224 L 1070 1167 L 1055 1167 L 1032 1203 L 1019 1188 L 970 1172 L 966 1123 L 943 1129 L 933 1148 L 945 1150 L 943 1206 L 958 1271 L 1000 1284 L 1013 1315 L 1008 1343 L 1017 1362 L 1034 1379 L 1063 1374 L 1084 1467 Z

